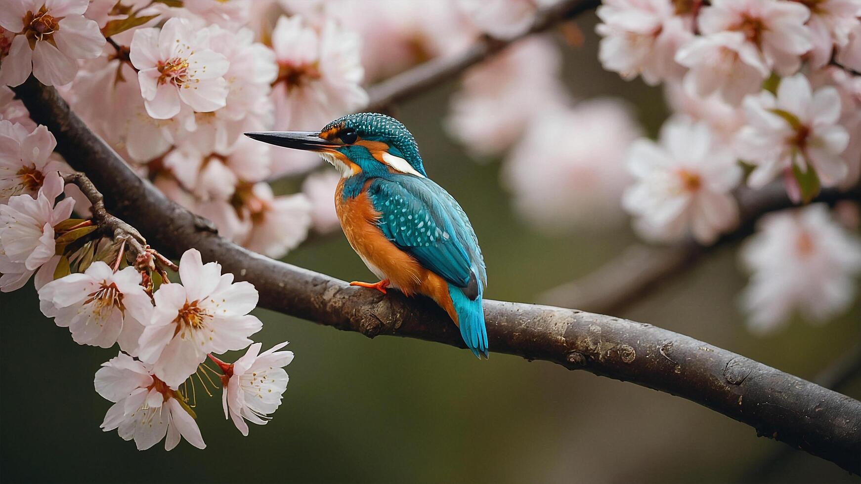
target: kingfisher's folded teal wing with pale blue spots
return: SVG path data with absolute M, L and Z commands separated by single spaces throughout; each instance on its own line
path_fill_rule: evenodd
M 388 240 L 452 285 L 477 295 L 476 278 L 484 282 L 484 262 L 466 214 L 449 193 L 412 176 L 377 178 L 368 193 Z

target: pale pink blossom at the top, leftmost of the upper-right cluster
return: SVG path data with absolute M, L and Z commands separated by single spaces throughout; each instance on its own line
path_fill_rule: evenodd
M 598 7 L 604 69 L 625 79 L 640 75 L 649 85 L 681 77 L 676 51 L 693 37 L 693 19 L 677 15 L 666 0 L 610 0 Z

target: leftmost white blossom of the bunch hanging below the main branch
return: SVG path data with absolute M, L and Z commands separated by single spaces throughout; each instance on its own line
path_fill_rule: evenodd
M 143 333 L 141 322 L 152 316 L 152 301 L 134 267 L 114 272 L 96 260 L 84 273 L 73 273 L 39 290 L 42 313 L 69 328 L 79 345 L 109 348 L 119 342 L 134 354 Z

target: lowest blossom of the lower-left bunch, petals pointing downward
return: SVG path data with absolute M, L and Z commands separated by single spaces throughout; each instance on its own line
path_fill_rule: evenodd
M 180 401 L 175 388 L 152 373 L 152 367 L 120 353 L 96 371 L 96 392 L 114 405 L 108 408 L 102 430 L 114 429 L 123 440 L 134 439 L 138 450 L 146 450 L 164 439 L 164 450 L 172 450 L 181 438 L 205 449 L 201 430 Z

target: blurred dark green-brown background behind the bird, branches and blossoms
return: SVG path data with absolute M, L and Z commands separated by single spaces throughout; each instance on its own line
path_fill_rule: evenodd
M 647 131 L 666 116 L 659 89 L 601 70 L 592 18 L 581 47 L 567 46 L 565 78 L 586 99 L 633 102 Z M 626 228 L 548 238 L 511 211 L 499 163 L 471 162 L 443 132 L 454 83 L 400 106 L 425 165 L 468 211 L 487 262 L 486 297 L 532 302 L 554 285 L 610 260 L 635 237 Z M 283 187 L 282 187 L 283 188 Z M 861 305 L 822 327 L 792 322 L 766 337 L 746 331 L 737 309 L 745 284 L 735 249 L 699 267 L 622 315 L 709 341 L 800 377 L 813 378 L 861 340 Z M 343 236 L 285 259 L 340 279 L 368 279 Z M 3 481 L 360 481 L 667 482 L 861 481 L 792 451 L 752 474 L 785 445 L 690 401 L 567 371 L 546 362 L 468 352 L 418 340 L 337 332 L 266 310 L 255 336 L 267 348 L 289 340 L 296 353 L 282 407 L 244 438 L 224 420 L 220 390 L 198 395 L 208 444 L 163 444 L 139 452 L 99 424 L 110 403 L 93 375 L 115 350 L 75 345 L 38 311 L 29 285 L 0 294 L 0 478 Z M 229 359 L 229 358 L 228 358 Z M 861 379 L 843 389 L 861 397 Z M 765 475 L 763 475 L 765 474 Z

